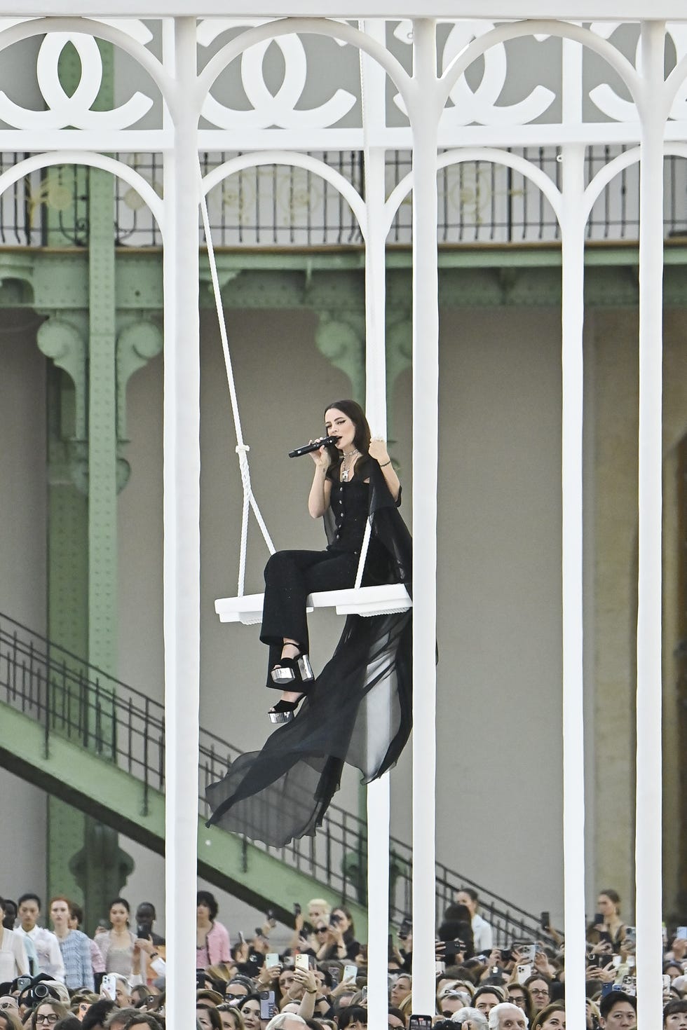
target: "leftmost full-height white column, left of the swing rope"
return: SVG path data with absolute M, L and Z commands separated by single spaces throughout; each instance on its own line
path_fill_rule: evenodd
M 196 19 L 174 23 L 174 148 L 165 154 L 164 589 L 167 1020 L 196 1023 L 200 676 L 200 363 Z

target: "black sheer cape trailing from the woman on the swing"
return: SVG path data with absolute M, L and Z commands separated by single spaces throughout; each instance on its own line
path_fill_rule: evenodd
M 360 474 L 370 479 L 372 534 L 387 559 L 382 581 L 404 583 L 412 596 L 412 542 L 397 502 L 374 458 L 356 470 Z M 330 539 L 332 525 L 325 516 Z M 398 760 L 411 726 L 412 610 L 349 615 L 296 719 L 206 788 L 212 809 L 207 825 L 270 847 L 313 836 L 339 788 L 343 763 L 356 766 L 365 783 L 377 779 Z

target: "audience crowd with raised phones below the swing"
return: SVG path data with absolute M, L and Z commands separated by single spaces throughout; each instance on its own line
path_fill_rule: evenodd
M 466 888 L 444 913 L 436 1010 L 423 1015 L 442 1030 L 564 1030 L 561 936 L 544 926 L 541 940 L 494 948 L 478 901 Z M 272 913 L 232 940 L 213 895 L 199 891 L 197 904 L 196 1030 L 367 1030 L 367 947 L 344 905 L 313 898 L 305 914 L 297 905 L 293 935 L 277 951 Z M 66 897 L 51 898 L 47 915 L 51 931 L 36 894 L 0 898 L 0 1030 L 165 1030 L 165 940 L 150 902 L 132 918 L 115 898 L 93 939 Z M 388 1030 L 430 1026 L 412 1019 L 412 951 L 408 919 L 389 937 Z M 677 927 L 664 941 L 664 1030 L 687 1030 L 686 969 L 687 929 Z M 634 930 L 617 893 L 603 891 L 587 931 L 588 1030 L 637 1027 L 633 973 Z

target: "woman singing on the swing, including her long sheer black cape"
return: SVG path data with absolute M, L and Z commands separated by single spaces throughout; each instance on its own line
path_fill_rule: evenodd
M 371 440 L 354 401 L 328 405 L 324 430 L 336 439 L 312 452 L 308 509 L 313 518 L 323 517 L 328 547 L 280 551 L 265 569 L 261 640 L 270 648 L 267 684 L 281 691 L 270 718 L 282 725 L 262 751 L 240 755 L 205 791 L 212 809 L 208 826 L 269 847 L 313 835 L 343 763 L 356 766 L 369 783 L 396 763 L 411 729 L 412 610 L 347 616 L 319 676 L 310 666 L 306 598 L 354 586 L 368 520 L 363 585 L 404 583 L 411 589 L 412 543 L 386 446 Z

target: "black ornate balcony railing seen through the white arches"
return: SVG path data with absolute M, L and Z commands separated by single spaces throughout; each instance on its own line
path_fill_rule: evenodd
M 587 148 L 590 181 L 602 167 L 623 152 L 622 146 Z M 555 146 L 514 150 L 560 185 L 561 165 Z M 235 154 L 203 153 L 204 174 Z M 0 153 L 0 172 L 24 154 Z M 115 154 L 135 168 L 159 193 L 163 165 L 159 153 Z M 363 191 L 363 156 L 357 150 L 316 153 L 356 190 Z M 410 171 L 408 151 L 389 152 L 386 192 Z M 665 159 L 665 237 L 687 236 L 687 161 Z M 0 198 L 0 244 L 30 246 L 88 245 L 90 172 L 69 166 L 46 168 L 21 179 Z M 286 165 L 245 169 L 227 178 L 208 197 L 210 221 L 218 247 L 360 246 L 359 228 L 334 186 L 313 172 Z M 621 171 L 604 191 L 587 224 L 590 241 L 639 238 L 639 166 Z M 119 246 L 161 246 L 162 236 L 136 191 L 122 179 L 114 185 L 114 238 Z M 199 240 L 202 235 L 199 230 Z M 490 162 L 466 162 L 439 172 L 439 242 L 546 243 L 559 239 L 553 211 L 539 188 L 519 172 Z M 410 196 L 401 204 L 388 235 L 389 244 L 411 243 Z

